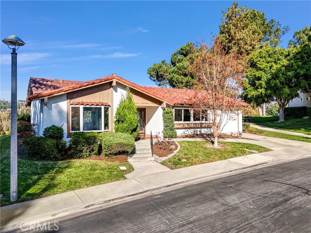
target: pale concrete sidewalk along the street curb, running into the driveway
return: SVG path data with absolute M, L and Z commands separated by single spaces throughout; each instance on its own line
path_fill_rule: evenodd
M 287 139 L 264 137 L 254 134 L 243 134 L 247 139 L 225 139 L 253 143 L 273 151 L 250 154 L 223 161 L 175 170 L 155 170 L 153 174 L 131 177 L 129 179 L 89 188 L 57 194 L 37 200 L 30 200 L 0 208 L 1 232 L 19 229 L 21 222 L 39 223 L 61 216 L 99 207 L 105 203 L 123 200 L 142 194 L 152 194 L 155 191 L 174 185 L 216 179 L 221 176 L 233 175 L 237 172 L 253 169 L 254 166 L 269 166 L 275 163 L 290 161 L 311 156 L 311 144 Z M 152 163 L 155 163 L 152 161 Z

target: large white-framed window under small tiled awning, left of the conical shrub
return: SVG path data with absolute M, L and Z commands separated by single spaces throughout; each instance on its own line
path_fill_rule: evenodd
M 71 132 L 109 130 L 109 107 L 70 106 Z

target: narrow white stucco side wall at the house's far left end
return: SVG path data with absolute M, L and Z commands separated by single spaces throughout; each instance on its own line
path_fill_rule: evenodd
M 35 135 L 39 136 L 43 129 L 43 100 L 31 102 L 31 123 L 35 125 Z

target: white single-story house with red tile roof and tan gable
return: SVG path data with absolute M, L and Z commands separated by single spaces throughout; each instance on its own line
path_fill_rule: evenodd
M 140 135 L 162 132 L 165 108 L 174 109 L 178 135 L 211 132 L 209 116 L 193 114 L 190 109 L 193 90 L 139 86 L 112 74 L 88 82 L 30 78 L 26 101 L 31 106 L 36 135 L 42 135 L 52 124 L 63 127 L 66 140 L 77 131 L 113 131 L 114 116 L 126 87 L 130 87 L 138 107 Z M 238 101 L 238 105 L 235 112 L 227 114 L 230 120 L 223 133 L 242 132 L 239 109 L 247 104 Z

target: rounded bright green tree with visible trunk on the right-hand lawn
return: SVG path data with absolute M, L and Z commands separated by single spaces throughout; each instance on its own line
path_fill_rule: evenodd
M 243 98 L 259 105 L 276 101 L 279 120 L 284 121 L 284 108 L 299 96 L 298 91 L 311 88 L 311 46 L 306 43 L 290 48 L 264 46 L 248 58 L 249 69 L 243 87 Z

